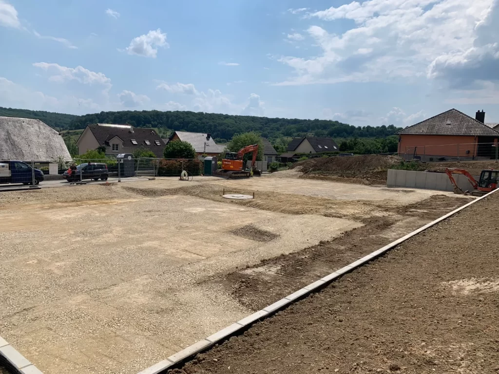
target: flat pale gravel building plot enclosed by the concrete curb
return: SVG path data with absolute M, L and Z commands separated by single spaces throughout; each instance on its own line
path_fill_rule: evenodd
M 294 171 L 2 193 L 0 336 L 45 374 L 135 374 L 467 201 Z

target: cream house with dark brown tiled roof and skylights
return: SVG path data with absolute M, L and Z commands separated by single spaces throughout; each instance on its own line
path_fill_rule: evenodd
M 80 155 L 88 150 L 104 147 L 108 156 L 147 149 L 156 157 L 163 157 L 165 149 L 165 142 L 152 129 L 107 123 L 88 125 L 76 141 L 76 145 Z

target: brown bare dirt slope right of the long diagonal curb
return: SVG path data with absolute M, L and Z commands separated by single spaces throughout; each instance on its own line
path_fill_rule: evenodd
M 495 194 L 169 373 L 497 374 L 498 209 Z

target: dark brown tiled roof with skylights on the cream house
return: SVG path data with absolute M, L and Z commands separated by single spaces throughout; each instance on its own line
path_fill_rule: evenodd
M 109 141 L 115 136 L 120 138 L 125 148 L 145 148 L 151 150 L 157 157 L 163 157 L 165 143 L 156 131 L 145 127 L 133 127 L 130 125 L 113 125 L 99 123 L 97 125 L 88 125 L 100 146 L 109 147 Z M 132 143 L 132 139 L 137 144 Z M 149 141 L 149 145 L 145 141 Z M 159 143 L 159 145 L 156 144 Z

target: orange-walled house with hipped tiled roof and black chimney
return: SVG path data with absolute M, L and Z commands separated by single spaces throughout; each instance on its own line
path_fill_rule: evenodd
M 451 109 L 398 131 L 406 160 L 484 160 L 496 157 L 499 131 L 485 124 L 485 112 L 470 117 Z

